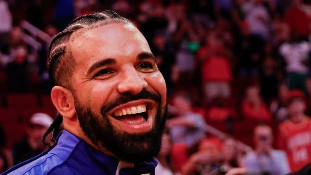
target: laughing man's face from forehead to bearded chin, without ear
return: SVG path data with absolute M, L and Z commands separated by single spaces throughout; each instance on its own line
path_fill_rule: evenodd
M 75 34 L 79 33 L 77 31 Z M 166 85 L 149 45 L 132 24 L 108 24 L 73 34 L 72 93 L 85 135 L 128 162 L 160 149 Z

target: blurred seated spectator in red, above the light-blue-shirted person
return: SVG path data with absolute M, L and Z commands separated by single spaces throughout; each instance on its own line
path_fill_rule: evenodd
M 245 119 L 264 121 L 268 123 L 272 121 L 271 113 L 260 97 L 259 87 L 255 85 L 246 88 L 241 111 Z

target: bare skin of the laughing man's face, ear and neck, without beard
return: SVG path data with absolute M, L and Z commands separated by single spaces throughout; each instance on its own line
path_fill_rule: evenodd
M 79 32 L 74 33 L 69 41 L 76 62 L 71 77 L 74 93 L 64 87 L 54 86 L 51 91 L 52 102 L 63 116 L 64 129 L 96 149 L 114 156 L 85 135 L 77 118 L 75 100 L 81 106 L 90 108 L 96 116 L 102 116 L 101 108 L 121 94 L 136 95 L 143 89 L 159 94 L 161 104 L 153 100 L 135 100 L 120 104 L 103 116 L 108 117 L 114 129 L 120 133 L 145 133 L 155 125 L 156 106 L 165 109 L 165 81 L 146 39 L 133 24 L 108 24 L 77 33 Z M 121 108 L 145 104 L 148 106 L 148 120 L 143 123 L 137 118 L 132 119 L 134 124 L 130 124 L 128 122 L 131 121 L 122 122 L 112 117 Z

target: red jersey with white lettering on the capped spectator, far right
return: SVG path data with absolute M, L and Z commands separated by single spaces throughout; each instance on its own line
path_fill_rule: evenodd
M 286 151 L 291 171 L 311 162 L 311 119 L 300 123 L 285 121 L 279 125 L 277 146 Z

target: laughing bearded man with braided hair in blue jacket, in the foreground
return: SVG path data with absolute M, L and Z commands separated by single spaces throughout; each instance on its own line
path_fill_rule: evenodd
M 48 132 L 61 121 L 64 131 L 5 174 L 154 174 L 166 85 L 139 30 L 113 11 L 81 16 L 54 37 L 49 59 L 62 117 Z

